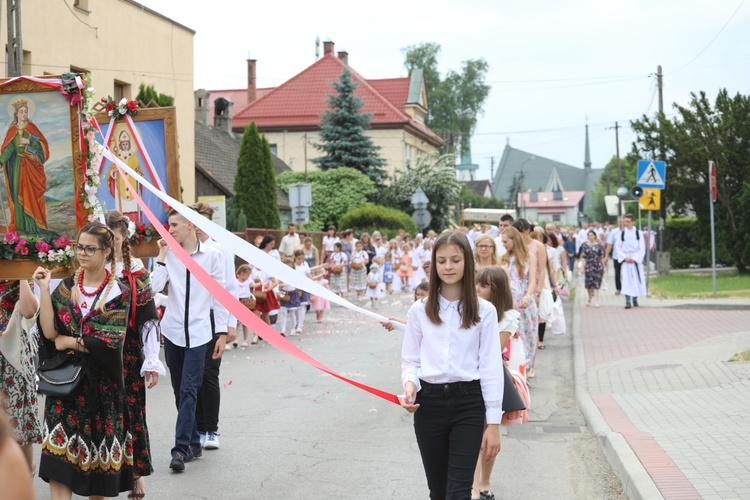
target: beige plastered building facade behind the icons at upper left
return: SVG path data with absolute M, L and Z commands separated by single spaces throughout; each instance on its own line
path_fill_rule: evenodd
M 142 83 L 174 97 L 182 195 L 186 202 L 192 202 L 195 31 L 132 0 L 18 4 L 22 9 L 24 75 L 89 72 L 97 98 L 134 98 Z M 0 39 L 7 40 L 7 20 L 2 21 Z

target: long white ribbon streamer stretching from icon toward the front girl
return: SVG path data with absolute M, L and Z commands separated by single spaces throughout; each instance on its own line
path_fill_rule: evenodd
M 101 145 L 98 146 L 102 147 Z M 298 273 L 286 264 L 279 262 L 263 250 L 256 248 L 249 242 L 243 240 L 232 232 L 227 231 L 223 227 L 219 226 L 215 222 L 200 215 L 190 207 L 183 205 L 179 201 L 175 200 L 165 192 L 160 191 L 158 188 L 149 183 L 136 171 L 127 166 L 122 160 L 112 154 L 109 149 L 103 148 L 102 154 L 109 161 L 117 163 L 120 168 L 127 172 L 132 178 L 136 179 L 143 187 L 151 191 L 155 196 L 160 198 L 167 205 L 177 210 L 183 217 L 193 223 L 196 227 L 200 228 L 201 231 L 209 235 L 211 238 L 219 242 L 224 248 L 241 257 L 245 261 L 251 262 L 253 265 L 257 265 L 260 269 L 262 269 L 269 275 L 280 279 L 284 283 L 289 283 L 295 288 L 299 288 L 301 290 L 305 290 L 306 292 L 310 292 L 313 295 L 323 297 L 330 302 L 338 304 L 352 311 L 356 311 L 376 321 L 391 323 L 395 328 L 399 330 L 404 330 L 406 328 L 401 323 L 391 322 L 391 320 L 389 320 L 385 316 L 381 316 L 380 314 L 376 314 L 372 311 L 368 311 L 367 309 L 363 309 L 352 304 L 343 297 L 336 295 L 329 289 Z M 152 223 L 159 224 L 159 221 L 152 221 Z

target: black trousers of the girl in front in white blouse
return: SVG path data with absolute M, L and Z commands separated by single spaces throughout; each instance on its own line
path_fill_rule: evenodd
M 414 432 L 430 498 L 467 500 L 484 435 L 482 388 L 478 380 L 421 385 Z

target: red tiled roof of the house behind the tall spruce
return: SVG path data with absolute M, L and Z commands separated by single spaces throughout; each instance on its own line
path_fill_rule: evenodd
M 317 127 L 328 109 L 327 99 L 333 93 L 346 65 L 333 53 L 326 54 L 301 73 L 270 92 L 258 97 L 243 109 L 234 108 L 233 128 L 244 128 L 254 121 L 259 129 L 278 127 Z M 373 127 L 378 125 L 411 125 L 427 136 L 442 142 L 440 137 L 424 124 L 413 120 L 403 111 L 409 90 L 409 79 L 375 80 L 371 84 L 349 68 L 352 80 L 359 86 L 355 91 L 362 99 L 362 113 L 370 113 Z M 383 89 L 383 95 L 377 87 Z M 403 96 L 403 97 L 399 97 Z M 212 97 L 213 99 L 213 97 Z M 399 99 L 401 102 L 393 102 Z

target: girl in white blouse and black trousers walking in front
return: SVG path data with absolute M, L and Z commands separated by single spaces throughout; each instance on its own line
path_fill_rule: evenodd
M 497 312 L 477 297 L 469 240 L 443 233 L 427 299 L 409 310 L 401 354 L 401 405 L 414 413 L 430 498 L 469 498 L 475 457 L 500 451 L 501 356 Z

